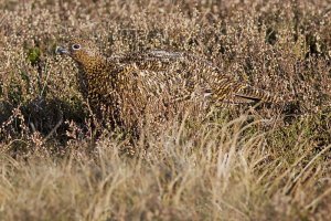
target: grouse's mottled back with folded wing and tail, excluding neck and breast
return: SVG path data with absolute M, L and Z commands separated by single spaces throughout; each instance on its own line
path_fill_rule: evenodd
M 210 99 L 214 104 L 277 103 L 281 99 L 225 75 L 211 62 L 186 52 L 150 50 L 107 62 L 118 70 L 119 81 L 137 83 L 135 90 L 148 96 L 167 93 L 172 102 L 192 97 Z

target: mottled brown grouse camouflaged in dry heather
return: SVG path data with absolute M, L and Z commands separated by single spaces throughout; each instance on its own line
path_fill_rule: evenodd
M 189 52 L 146 50 L 105 56 L 94 42 L 71 39 L 57 46 L 78 67 L 78 87 L 97 115 L 115 126 L 141 128 L 148 120 L 166 120 L 179 107 L 201 103 L 278 103 L 281 96 L 222 73 L 212 62 Z M 146 113 L 152 113 L 147 118 Z

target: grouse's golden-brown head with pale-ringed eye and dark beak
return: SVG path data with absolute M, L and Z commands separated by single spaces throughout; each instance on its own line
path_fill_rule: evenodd
M 57 46 L 55 52 L 70 55 L 83 66 L 90 65 L 103 57 L 94 43 L 82 39 L 72 39 L 67 49 Z

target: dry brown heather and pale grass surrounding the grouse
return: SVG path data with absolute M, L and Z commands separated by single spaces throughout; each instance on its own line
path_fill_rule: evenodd
M 328 0 L 0 1 L 1 220 L 331 220 Z M 217 108 L 126 138 L 92 126 L 70 36 L 188 51 L 282 106 Z M 148 148 L 146 148 L 148 146 Z

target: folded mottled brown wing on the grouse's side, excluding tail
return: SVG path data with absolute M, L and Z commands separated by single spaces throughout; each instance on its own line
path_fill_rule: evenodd
M 108 57 L 107 62 L 118 81 L 131 82 L 137 92 L 151 96 L 167 94 L 179 102 L 189 99 L 196 87 L 195 74 L 188 70 L 192 65 L 183 52 L 150 50 Z

